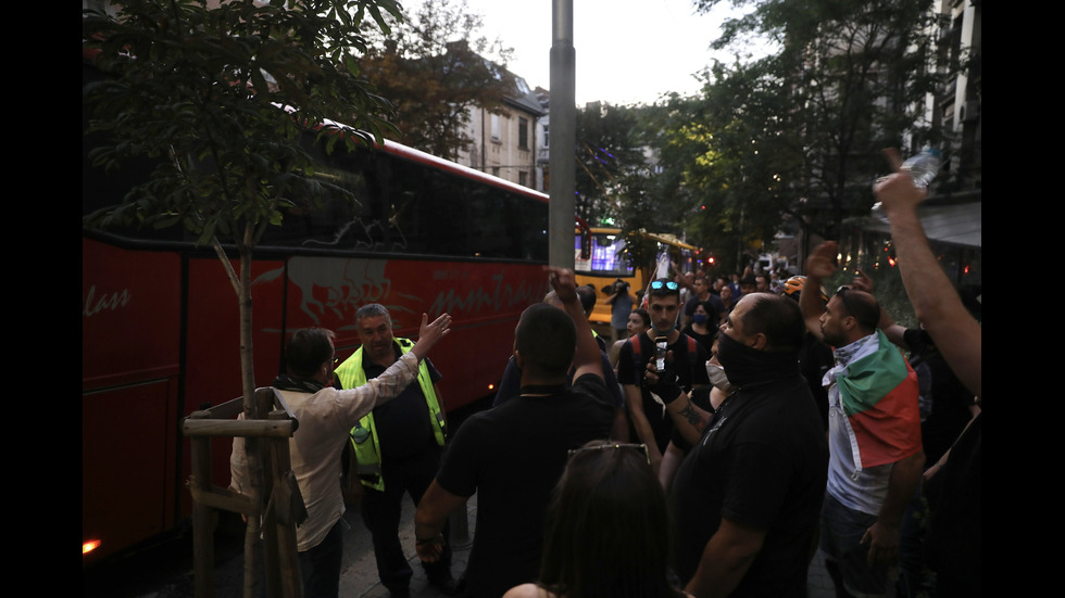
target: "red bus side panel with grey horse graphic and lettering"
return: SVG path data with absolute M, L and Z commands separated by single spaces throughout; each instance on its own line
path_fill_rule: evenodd
M 423 313 L 430 319 L 451 314 L 452 333 L 431 359 L 443 374 L 444 405 L 455 409 L 494 392 L 518 317 L 547 289 L 542 266 L 532 264 L 297 256 L 289 259 L 287 325 L 336 331 L 337 356 L 346 358 L 360 344 L 355 311 L 362 305 L 385 305 L 396 335 L 406 338 L 417 336 Z

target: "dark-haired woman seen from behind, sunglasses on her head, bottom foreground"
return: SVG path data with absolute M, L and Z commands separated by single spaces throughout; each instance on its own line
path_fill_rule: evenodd
M 643 445 L 569 451 L 547 513 L 540 581 L 503 598 L 685 598 L 667 577 L 665 494 Z

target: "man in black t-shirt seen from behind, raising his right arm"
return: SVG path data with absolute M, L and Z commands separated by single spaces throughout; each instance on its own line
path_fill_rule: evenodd
M 514 332 L 521 395 L 463 423 L 414 518 L 418 557 L 433 561 L 443 552 L 448 517 L 477 493 L 469 596 L 502 596 L 536 581 L 543 516 L 568 451 L 610 435 L 614 410 L 573 272 L 552 269 L 550 281 L 565 311 L 537 304 L 522 314 Z

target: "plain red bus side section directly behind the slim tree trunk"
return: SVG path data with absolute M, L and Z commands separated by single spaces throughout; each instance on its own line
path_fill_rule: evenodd
M 252 280 L 280 268 L 281 262 L 253 262 Z M 239 272 L 239 262 L 233 263 Z M 255 386 L 268 386 L 277 376 L 281 352 L 280 288 L 253 284 L 252 351 Z M 237 294 L 216 258 L 189 259 L 188 325 L 186 331 L 185 416 L 204 405 L 221 405 L 241 395 L 240 315 Z M 181 442 L 183 478 L 189 472 L 191 445 Z M 215 485 L 229 485 L 231 438 L 211 443 Z M 191 496 L 181 493 L 181 512 L 191 512 Z

